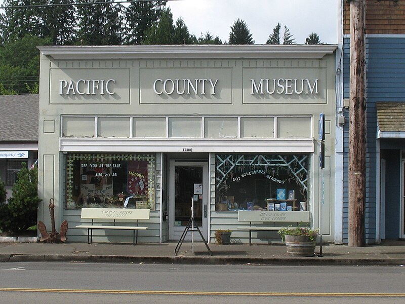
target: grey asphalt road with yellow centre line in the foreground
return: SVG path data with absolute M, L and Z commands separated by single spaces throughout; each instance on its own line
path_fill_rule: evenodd
M 0 303 L 405 302 L 405 267 L 0 263 L 0 282 Z

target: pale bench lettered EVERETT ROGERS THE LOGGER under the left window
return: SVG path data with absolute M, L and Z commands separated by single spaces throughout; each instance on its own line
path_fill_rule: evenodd
M 150 216 L 149 209 L 121 209 L 121 208 L 82 208 L 82 219 L 91 219 L 91 223 L 83 223 L 76 225 L 76 228 L 87 229 L 87 243 L 91 244 L 93 241 L 93 230 L 132 230 L 134 232 L 133 244 L 138 243 L 138 230 L 146 230 L 148 227 L 139 226 L 139 220 L 148 220 Z M 94 220 L 100 220 L 103 224 L 94 224 Z M 113 220 L 106 222 L 106 220 Z M 136 226 L 132 225 L 116 225 L 116 220 L 129 222 L 136 220 Z M 97 223 L 98 223 L 97 222 Z M 136 243 L 135 243 L 136 231 Z

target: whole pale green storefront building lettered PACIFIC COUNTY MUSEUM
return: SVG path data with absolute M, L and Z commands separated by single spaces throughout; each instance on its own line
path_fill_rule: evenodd
M 247 243 L 238 210 L 277 207 L 311 211 L 334 241 L 336 46 L 39 50 L 38 219 L 50 226 L 53 198 L 69 241 L 87 241 L 75 228 L 83 207 L 150 208 L 139 242 L 178 241 L 191 202 L 210 242 L 231 229 L 232 242 Z M 132 240 L 126 231 L 94 235 Z M 279 242 L 276 232 L 252 237 Z

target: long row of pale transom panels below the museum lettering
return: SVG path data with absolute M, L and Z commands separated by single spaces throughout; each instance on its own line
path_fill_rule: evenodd
M 64 116 L 62 137 L 311 138 L 311 116 Z

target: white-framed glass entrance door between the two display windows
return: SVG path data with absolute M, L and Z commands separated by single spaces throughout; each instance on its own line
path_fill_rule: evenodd
M 179 240 L 191 217 L 194 204 L 194 221 L 204 238 L 208 236 L 208 164 L 204 162 L 170 162 L 169 235 Z M 200 240 L 194 232 L 194 240 Z M 191 232 L 186 236 L 191 240 Z

